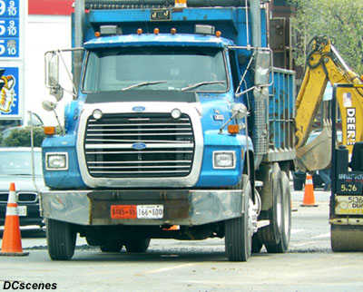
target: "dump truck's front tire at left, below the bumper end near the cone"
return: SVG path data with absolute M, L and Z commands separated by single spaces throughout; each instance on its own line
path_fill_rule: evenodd
M 47 219 L 46 242 L 49 257 L 53 260 L 69 260 L 74 256 L 76 232 L 72 224 Z

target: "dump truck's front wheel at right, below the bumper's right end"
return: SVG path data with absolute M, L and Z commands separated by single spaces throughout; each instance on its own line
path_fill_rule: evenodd
M 224 223 L 224 243 L 230 261 L 247 261 L 252 249 L 253 230 L 249 210 L 252 191 L 246 175 L 242 176 L 241 186 L 244 213 L 241 217 L 226 220 Z

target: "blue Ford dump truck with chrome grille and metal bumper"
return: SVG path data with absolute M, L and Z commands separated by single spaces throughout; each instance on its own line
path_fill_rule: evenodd
M 76 1 L 73 44 L 45 54 L 50 258 L 76 235 L 103 252 L 152 238 L 225 238 L 226 258 L 289 248 L 295 73 L 274 68 L 268 1 Z M 56 99 L 56 101 L 55 101 Z

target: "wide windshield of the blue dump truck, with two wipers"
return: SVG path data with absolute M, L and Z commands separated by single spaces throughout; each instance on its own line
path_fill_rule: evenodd
M 142 47 L 89 52 L 83 92 L 180 90 L 226 92 L 221 49 Z

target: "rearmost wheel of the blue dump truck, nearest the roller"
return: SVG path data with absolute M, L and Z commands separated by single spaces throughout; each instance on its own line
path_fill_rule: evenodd
M 282 181 L 282 229 L 278 244 L 266 245 L 270 253 L 285 253 L 289 249 L 291 235 L 291 192 L 289 190 L 289 178 L 285 171 L 281 171 Z

